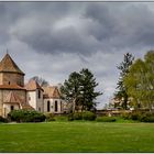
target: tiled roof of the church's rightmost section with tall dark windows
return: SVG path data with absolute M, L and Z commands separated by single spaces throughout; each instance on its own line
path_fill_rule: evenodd
M 61 94 L 58 91 L 58 88 L 53 87 L 43 87 L 44 90 L 44 98 L 61 98 Z

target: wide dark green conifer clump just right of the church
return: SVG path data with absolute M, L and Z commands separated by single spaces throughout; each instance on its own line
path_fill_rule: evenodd
M 78 110 L 92 110 L 96 108 L 96 98 L 101 92 L 96 92 L 98 86 L 96 78 L 88 69 L 72 73 L 68 80 L 62 86 L 62 94 L 68 102 L 73 102 L 73 112 Z

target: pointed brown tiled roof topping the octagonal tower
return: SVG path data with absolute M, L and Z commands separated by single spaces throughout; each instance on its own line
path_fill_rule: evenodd
M 18 65 L 13 62 L 9 54 L 0 62 L 0 73 L 18 73 L 24 75 L 24 73 L 18 67 Z

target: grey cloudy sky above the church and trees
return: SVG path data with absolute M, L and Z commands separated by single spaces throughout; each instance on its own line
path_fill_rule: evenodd
M 125 53 L 154 48 L 154 2 L 0 2 L 0 58 L 51 85 L 89 68 L 103 107 L 116 90 Z

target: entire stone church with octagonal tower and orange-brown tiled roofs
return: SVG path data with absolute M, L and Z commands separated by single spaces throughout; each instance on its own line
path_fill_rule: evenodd
M 11 110 L 29 109 L 40 112 L 64 112 L 64 100 L 57 87 L 41 87 L 35 80 L 24 85 L 24 73 L 9 54 L 0 62 L 0 116 Z

